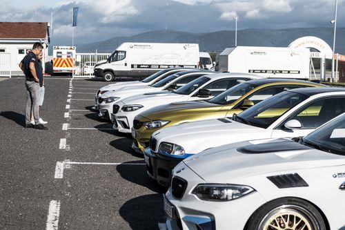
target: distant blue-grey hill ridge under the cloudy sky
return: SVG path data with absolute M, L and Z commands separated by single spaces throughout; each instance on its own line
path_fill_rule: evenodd
M 237 46 L 287 47 L 299 37 L 315 36 L 333 48 L 333 28 L 288 28 L 282 30 L 246 29 L 237 31 Z M 206 33 L 157 30 L 130 37 L 113 37 L 106 41 L 77 46 L 77 52 L 112 52 L 120 44 L 132 42 L 197 43 L 201 51 L 219 51 L 235 46 L 235 31 L 221 30 Z M 335 52 L 345 55 L 345 28 L 337 28 Z

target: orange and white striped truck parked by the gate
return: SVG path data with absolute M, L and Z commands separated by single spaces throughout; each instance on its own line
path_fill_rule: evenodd
M 72 74 L 75 71 L 75 46 L 53 46 L 52 72 Z

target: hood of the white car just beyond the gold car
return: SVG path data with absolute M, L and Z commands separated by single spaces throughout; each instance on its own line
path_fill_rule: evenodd
M 186 95 L 179 95 L 177 93 L 171 93 L 169 91 L 157 92 L 157 93 L 144 93 L 141 95 L 135 95 L 123 99 L 124 104 L 141 104 L 143 106 L 152 107 L 155 106 L 155 102 L 169 102 L 178 101 L 181 98 L 186 97 Z

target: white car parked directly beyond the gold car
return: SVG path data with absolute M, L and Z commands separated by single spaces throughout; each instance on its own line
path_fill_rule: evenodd
M 172 102 L 210 99 L 238 84 L 238 80 L 248 81 L 248 79 L 262 78 L 243 73 L 215 73 L 212 71 L 210 73 L 213 74 L 199 77 L 173 92 L 136 95 L 117 102 L 115 104 L 117 109 L 114 110 L 114 128 L 121 133 L 131 133 L 134 117 L 149 108 Z

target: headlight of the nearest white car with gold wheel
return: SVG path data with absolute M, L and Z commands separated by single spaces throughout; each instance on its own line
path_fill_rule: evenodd
M 237 184 L 199 184 L 193 190 L 200 200 L 229 201 L 255 191 L 250 186 Z

